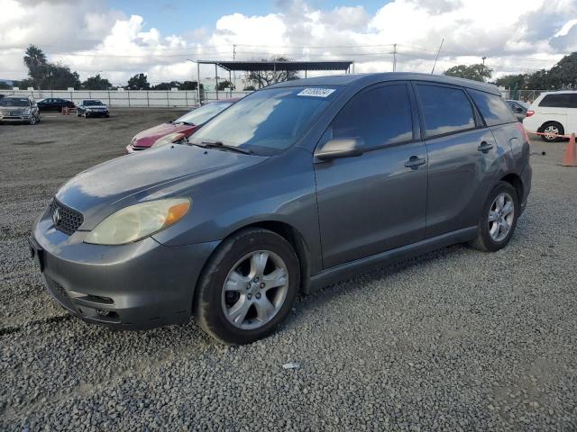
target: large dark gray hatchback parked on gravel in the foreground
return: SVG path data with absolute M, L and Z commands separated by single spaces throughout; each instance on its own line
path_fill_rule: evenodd
M 189 141 L 56 193 L 31 250 L 71 313 L 121 329 L 192 314 L 249 343 L 300 291 L 453 243 L 505 247 L 531 188 L 527 135 L 497 87 L 447 76 L 270 85 Z

